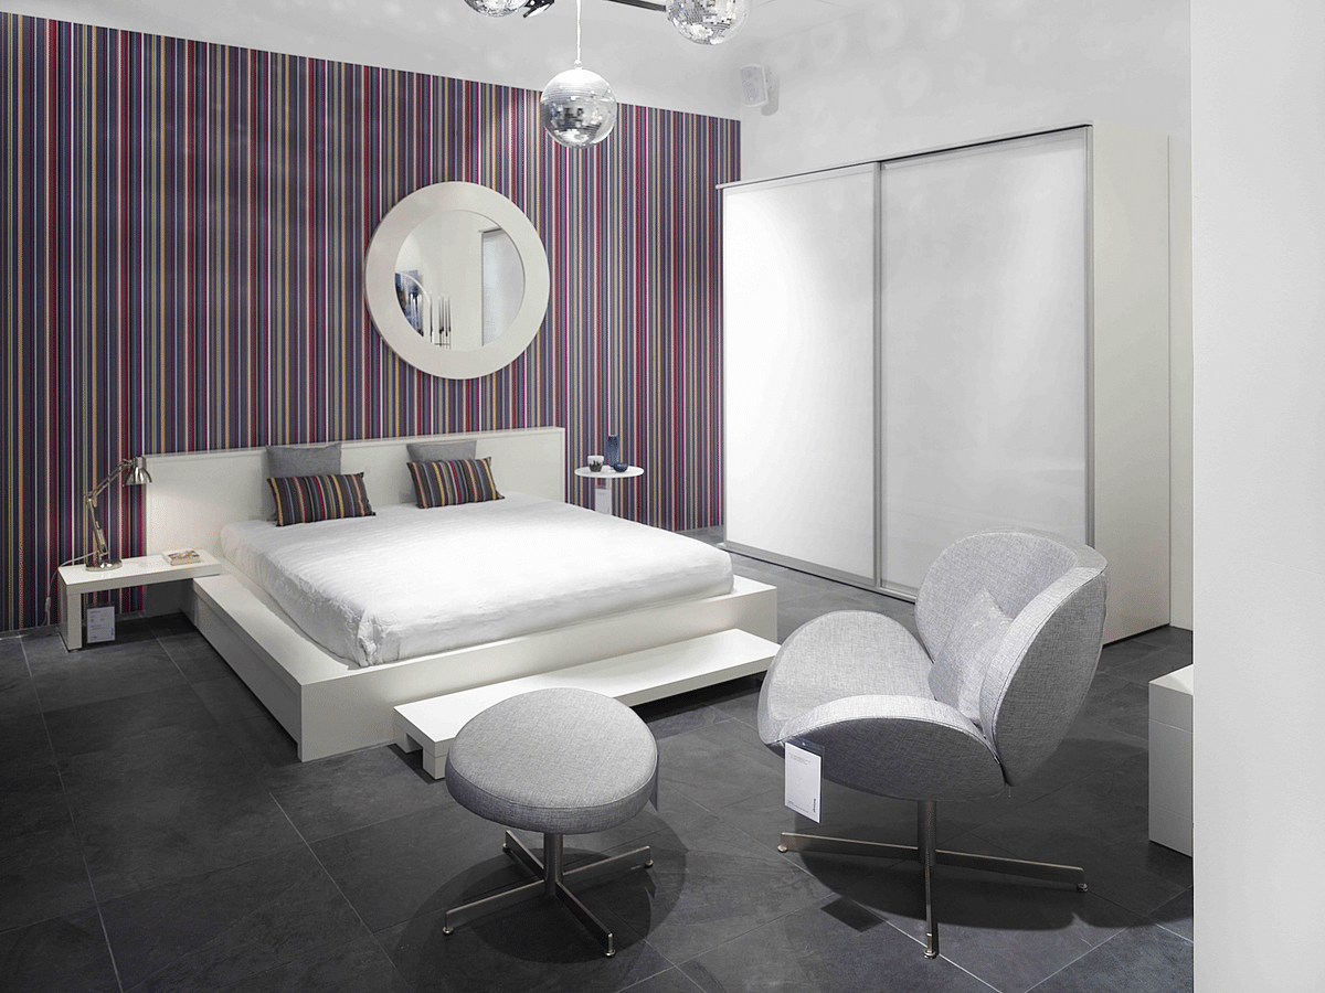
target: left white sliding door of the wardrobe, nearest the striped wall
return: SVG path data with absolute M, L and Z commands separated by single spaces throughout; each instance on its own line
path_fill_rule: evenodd
M 877 167 L 723 196 L 726 539 L 874 581 Z

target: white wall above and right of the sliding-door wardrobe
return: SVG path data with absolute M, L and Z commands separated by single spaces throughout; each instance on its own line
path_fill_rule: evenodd
M 758 13 L 758 11 L 757 11 Z M 1191 626 L 1189 0 L 878 0 L 734 64 L 772 68 L 742 110 L 742 177 L 784 175 L 1077 120 L 1171 139 L 1171 617 Z

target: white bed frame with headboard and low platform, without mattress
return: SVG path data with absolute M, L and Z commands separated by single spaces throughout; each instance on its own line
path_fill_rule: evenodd
M 342 471 L 364 474 L 374 504 L 412 503 L 407 442 L 461 438 L 477 441 L 480 458 L 492 455 L 500 490 L 566 499 L 562 428 L 347 441 L 342 445 Z M 224 561 L 221 527 L 270 516 L 264 449 L 148 455 L 147 466 L 152 475 L 144 489 L 148 551 L 204 548 Z M 395 707 L 403 703 L 723 630 L 746 630 L 770 642 L 778 637 L 776 589 L 735 577 L 731 592 L 722 596 L 673 601 L 359 669 L 303 634 L 264 591 L 228 563 L 219 576 L 180 585 L 179 602 L 150 598 L 148 610 L 182 609 L 290 733 L 305 761 L 392 741 Z M 749 665 L 739 671 L 717 665 L 698 683 L 689 681 L 686 688 L 747 671 Z M 660 682 L 655 696 L 664 692 L 666 686 Z

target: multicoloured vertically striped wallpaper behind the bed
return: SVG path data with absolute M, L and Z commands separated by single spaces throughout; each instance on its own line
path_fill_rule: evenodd
M 572 465 L 612 432 L 645 467 L 619 514 L 718 522 L 737 122 L 623 105 L 571 151 L 529 90 L 7 13 L 0 79 L 0 630 L 45 622 L 82 494 L 140 453 L 556 424 Z M 360 286 L 376 224 L 444 180 L 514 200 L 551 265 L 543 330 L 478 380 L 400 361 Z M 101 507 L 113 551 L 158 551 L 134 490 Z

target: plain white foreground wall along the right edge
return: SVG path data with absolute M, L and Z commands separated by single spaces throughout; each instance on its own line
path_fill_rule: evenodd
M 1325 990 L 1325 5 L 1192 7 L 1196 989 Z

